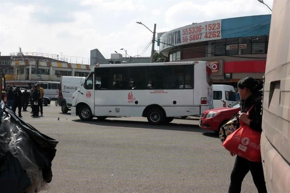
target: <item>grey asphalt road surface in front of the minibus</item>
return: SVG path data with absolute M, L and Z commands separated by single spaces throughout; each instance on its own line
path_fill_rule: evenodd
M 174 119 L 168 125 L 154 126 L 143 117 L 83 122 L 62 114 L 54 104 L 43 111 L 41 118 L 22 113 L 24 121 L 59 141 L 51 189 L 41 192 L 228 190 L 235 158 L 222 147 L 217 134 L 198 127 L 198 119 Z M 257 192 L 250 173 L 242 192 Z

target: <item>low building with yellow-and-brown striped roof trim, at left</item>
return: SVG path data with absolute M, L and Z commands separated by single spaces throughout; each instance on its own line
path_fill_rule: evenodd
M 40 56 L 35 52 L 12 53 L 10 63 L 14 74 L 5 74 L 6 86 L 31 88 L 36 81 L 60 81 L 62 76 L 84 77 L 92 68 L 91 65 L 68 63 L 50 56 Z

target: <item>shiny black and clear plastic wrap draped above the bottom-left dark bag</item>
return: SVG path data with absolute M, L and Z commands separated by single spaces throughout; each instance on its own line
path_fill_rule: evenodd
M 2 120 L 10 118 L 9 151 L 19 160 L 32 184 L 37 184 L 32 187 L 32 191 L 40 191 L 45 188 L 46 183 L 51 182 L 53 176 L 51 162 L 55 157 L 58 141 L 19 119 L 8 106 L 4 107 L 2 103 L 0 117 Z

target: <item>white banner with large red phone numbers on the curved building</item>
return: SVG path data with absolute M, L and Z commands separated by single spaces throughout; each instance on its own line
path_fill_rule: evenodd
M 221 39 L 221 20 L 192 24 L 171 30 L 160 37 L 160 50 L 188 43 Z

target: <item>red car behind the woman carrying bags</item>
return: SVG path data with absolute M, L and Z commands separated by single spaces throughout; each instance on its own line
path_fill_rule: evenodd
M 241 110 L 240 103 L 236 102 L 228 107 L 206 110 L 201 114 L 199 127 L 219 132 L 221 126 L 227 123 L 232 116 Z

